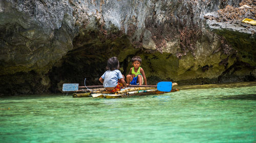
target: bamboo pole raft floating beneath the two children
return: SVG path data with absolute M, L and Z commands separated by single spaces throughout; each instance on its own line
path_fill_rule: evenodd
M 94 88 L 94 87 L 89 87 Z M 170 92 L 179 91 L 178 89 L 172 89 Z M 93 97 L 93 98 L 120 98 L 120 97 L 130 97 L 130 96 L 142 96 L 142 95 L 156 95 L 156 94 L 164 94 L 168 92 L 161 92 L 155 88 L 155 85 L 146 85 L 145 87 L 141 86 L 133 86 L 129 88 L 125 88 L 121 91 L 116 92 L 115 94 L 106 91 L 105 88 L 102 88 L 101 85 L 97 85 L 97 88 L 94 89 L 86 89 L 86 87 L 79 87 L 79 90 L 75 91 L 73 94 L 73 98 L 80 97 Z

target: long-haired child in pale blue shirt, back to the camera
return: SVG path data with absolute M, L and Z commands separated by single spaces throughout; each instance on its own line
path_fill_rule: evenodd
M 116 93 L 122 88 L 127 87 L 124 76 L 119 71 L 119 61 L 115 56 L 108 60 L 106 70 L 99 78 L 99 81 L 103 83 L 103 87 L 107 91 Z

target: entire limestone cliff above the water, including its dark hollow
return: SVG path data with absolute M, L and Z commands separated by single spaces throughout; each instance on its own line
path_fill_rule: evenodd
M 255 80 L 256 28 L 241 19 L 255 20 L 256 4 L 240 2 L 0 1 L 0 95 L 99 84 L 111 56 L 124 75 L 141 56 L 148 84 Z

